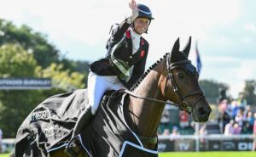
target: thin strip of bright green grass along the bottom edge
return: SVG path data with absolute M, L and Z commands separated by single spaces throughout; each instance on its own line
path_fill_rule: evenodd
M 0 157 L 9 157 L 9 154 L 0 154 Z M 173 152 L 161 153 L 160 157 L 256 157 L 256 152 Z

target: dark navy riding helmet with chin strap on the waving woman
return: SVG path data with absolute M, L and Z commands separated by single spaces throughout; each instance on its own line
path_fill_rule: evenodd
M 147 18 L 149 20 L 149 24 L 151 23 L 151 20 L 154 20 L 154 17 L 152 16 L 150 8 L 144 4 L 137 4 L 137 11 L 138 16 L 137 18 Z M 132 27 L 134 28 L 134 24 L 132 24 Z M 135 29 L 134 29 L 135 30 Z M 145 32 L 148 33 L 148 30 Z

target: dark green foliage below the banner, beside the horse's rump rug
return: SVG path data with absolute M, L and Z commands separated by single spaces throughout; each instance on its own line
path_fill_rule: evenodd
M 3 137 L 15 137 L 15 134 L 26 116 L 37 104 L 44 100 L 40 91 L 1 91 L 0 108 L 1 128 Z

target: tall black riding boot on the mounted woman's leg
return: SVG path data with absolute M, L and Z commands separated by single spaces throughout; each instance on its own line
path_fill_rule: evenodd
M 79 146 L 79 138 L 78 135 L 83 131 L 83 129 L 89 125 L 90 120 L 93 115 L 91 113 L 91 106 L 84 109 L 83 113 L 79 116 L 76 125 L 73 128 L 73 135 L 67 144 L 65 149 L 65 153 L 71 157 L 77 157 L 79 155 L 80 146 Z

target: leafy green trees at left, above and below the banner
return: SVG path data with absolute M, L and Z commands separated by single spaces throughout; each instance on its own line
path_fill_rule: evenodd
M 15 137 L 21 122 L 45 98 L 84 88 L 88 73 L 86 62 L 61 59 L 59 51 L 42 34 L 1 19 L 0 65 L 0 78 L 48 77 L 53 81 L 51 90 L 0 90 L 3 137 Z

